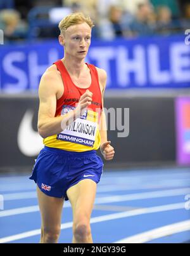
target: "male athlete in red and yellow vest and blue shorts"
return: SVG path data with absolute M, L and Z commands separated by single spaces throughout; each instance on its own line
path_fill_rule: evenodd
M 90 218 L 103 161 L 114 149 L 107 140 L 103 95 L 106 72 L 84 62 L 91 18 L 72 13 L 61 20 L 64 57 L 44 72 L 39 85 L 38 130 L 44 149 L 30 179 L 37 183 L 41 243 L 57 243 L 64 200 L 73 211 L 73 243 L 92 243 Z M 99 125 L 100 124 L 100 125 Z

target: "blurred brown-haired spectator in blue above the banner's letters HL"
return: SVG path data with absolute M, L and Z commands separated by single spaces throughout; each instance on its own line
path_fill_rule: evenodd
M 155 32 L 155 13 L 151 4 L 139 4 L 136 16 L 124 25 L 125 36 L 147 36 Z

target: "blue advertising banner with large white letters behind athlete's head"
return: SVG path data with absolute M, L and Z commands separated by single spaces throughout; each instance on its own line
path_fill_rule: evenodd
M 58 40 L 0 46 L 2 92 L 37 90 L 47 67 L 63 57 Z M 107 88 L 190 88 L 185 36 L 92 41 L 86 62 L 105 69 Z

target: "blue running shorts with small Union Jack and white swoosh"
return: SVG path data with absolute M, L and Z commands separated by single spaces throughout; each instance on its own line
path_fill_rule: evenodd
M 84 179 L 97 184 L 102 172 L 103 161 L 95 150 L 72 152 L 45 146 L 29 179 L 34 180 L 47 196 L 68 200 L 67 189 Z

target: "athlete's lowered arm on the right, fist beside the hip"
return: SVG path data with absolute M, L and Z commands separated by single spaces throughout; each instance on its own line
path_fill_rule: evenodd
M 106 115 L 104 110 L 104 94 L 106 88 L 106 80 L 107 74 L 106 71 L 103 69 L 98 69 L 98 77 L 99 77 L 99 85 L 101 88 L 101 102 L 102 102 L 102 109 L 100 124 L 99 124 L 99 133 L 101 136 L 101 146 L 100 150 L 106 160 L 112 160 L 115 154 L 114 148 L 110 145 L 111 141 L 108 141 L 107 138 L 107 126 L 106 126 Z

